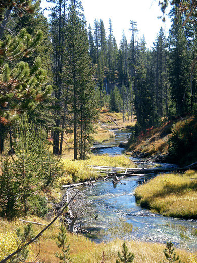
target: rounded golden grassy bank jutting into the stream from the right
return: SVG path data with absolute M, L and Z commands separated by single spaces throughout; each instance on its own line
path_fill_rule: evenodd
M 136 188 L 137 202 L 152 212 L 197 218 L 197 172 L 163 174 Z

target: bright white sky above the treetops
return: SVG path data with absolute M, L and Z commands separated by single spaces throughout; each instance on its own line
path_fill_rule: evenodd
M 130 20 L 137 22 L 138 39 L 144 35 L 147 48 L 153 47 L 157 34 L 161 28 L 164 28 L 159 0 L 81 0 L 84 9 L 84 15 L 87 21 L 87 27 L 90 24 L 94 27 L 95 19 L 102 19 L 108 35 L 109 18 L 112 21 L 113 35 L 116 38 L 119 47 L 123 30 L 127 41 L 130 42 L 131 31 Z M 41 7 L 46 7 L 48 3 L 42 1 Z M 168 10 L 170 7 L 168 8 Z M 166 16 L 166 31 L 170 28 L 170 19 Z

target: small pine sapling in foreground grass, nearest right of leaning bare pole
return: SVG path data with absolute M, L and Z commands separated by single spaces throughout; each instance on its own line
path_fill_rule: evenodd
M 70 245 L 67 244 L 67 235 L 66 235 L 66 228 L 64 225 L 60 226 L 60 233 L 58 234 L 58 241 L 56 242 L 57 246 L 60 248 L 62 247 L 62 253 L 56 252 L 55 256 L 60 259 L 60 263 L 71 263 L 72 260 L 70 259 Z

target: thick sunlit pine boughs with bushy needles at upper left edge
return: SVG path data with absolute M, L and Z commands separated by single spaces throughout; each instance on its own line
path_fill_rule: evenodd
M 8 35 L 0 42 L 0 146 L 4 150 L 4 137 L 10 126 L 22 112 L 35 108 L 51 91 L 46 70 L 41 68 L 40 59 L 33 65 L 20 61 L 30 56 L 42 37 L 38 31 L 34 37 L 22 29 L 16 37 Z M 17 61 L 20 61 L 17 63 Z

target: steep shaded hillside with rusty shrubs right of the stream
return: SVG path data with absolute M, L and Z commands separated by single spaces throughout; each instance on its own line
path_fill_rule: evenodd
M 131 136 L 127 152 L 132 156 L 156 157 L 181 166 L 197 161 L 197 120 L 194 117 L 163 121 L 157 128 Z

